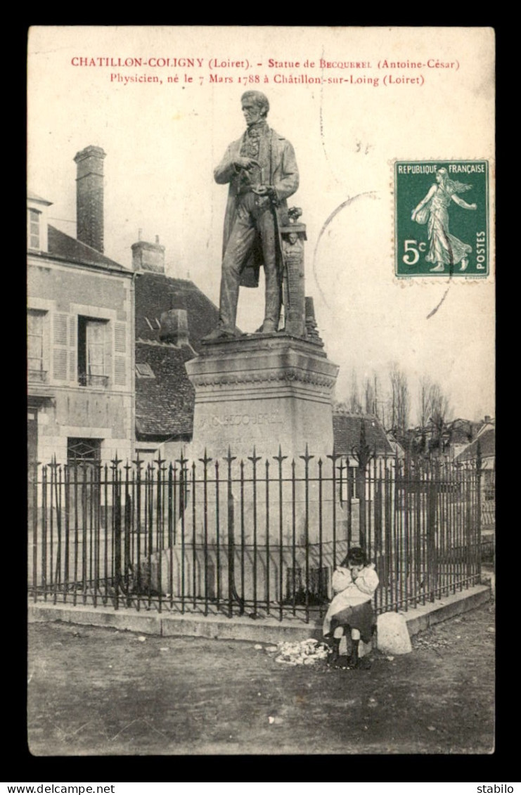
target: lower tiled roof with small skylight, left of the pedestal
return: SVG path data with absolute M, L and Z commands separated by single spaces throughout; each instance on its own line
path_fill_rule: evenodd
M 138 439 L 192 436 L 194 390 L 185 369 L 192 358 L 189 347 L 136 343 L 136 364 L 150 365 L 155 376 L 135 379 Z

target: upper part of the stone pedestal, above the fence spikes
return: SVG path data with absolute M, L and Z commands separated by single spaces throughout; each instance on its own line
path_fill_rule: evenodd
M 190 457 L 290 460 L 332 452 L 332 390 L 338 366 L 321 343 L 285 334 L 252 334 L 207 343 L 186 363 L 196 390 Z

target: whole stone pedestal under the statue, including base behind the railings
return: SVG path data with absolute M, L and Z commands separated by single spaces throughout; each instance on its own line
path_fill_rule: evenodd
M 333 551 L 336 563 L 347 551 L 328 458 L 338 366 L 320 339 L 278 332 L 205 343 L 186 370 L 185 510 L 172 549 L 150 561 L 152 587 L 219 599 L 235 588 L 254 607 L 326 598 Z

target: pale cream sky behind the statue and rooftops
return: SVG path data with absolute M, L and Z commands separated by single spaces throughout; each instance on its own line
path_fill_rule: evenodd
M 488 159 L 493 174 L 493 49 L 493 33 L 479 28 L 36 27 L 29 188 L 52 201 L 50 223 L 75 236 L 73 158 L 103 147 L 105 254 L 130 267 L 138 230 L 150 242 L 158 235 L 168 275 L 189 277 L 218 304 L 227 187 L 213 169 L 243 133 L 245 85 L 258 88 L 297 156 L 290 205 L 307 229 L 305 293 L 340 366 L 336 399 L 348 397 L 353 369 L 359 384 L 376 372 L 387 386 L 398 363 L 412 421 L 423 375 L 441 384 L 454 417 L 493 416 L 493 258 L 484 279 L 396 278 L 393 196 L 396 159 Z M 169 65 L 152 65 L 161 59 Z M 321 59 L 344 66 L 319 69 Z M 400 64 L 395 78 L 423 83 L 383 85 L 386 59 Z M 410 66 L 427 60 L 457 66 Z M 324 75 L 359 82 L 287 82 Z M 162 83 L 145 82 L 156 76 Z M 255 331 L 262 311 L 262 289 L 241 290 L 239 328 Z

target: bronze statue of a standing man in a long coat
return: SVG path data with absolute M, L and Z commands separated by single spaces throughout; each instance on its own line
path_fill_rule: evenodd
M 282 247 L 279 216 L 298 188 L 293 146 L 266 122 L 270 103 L 260 91 L 241 97 L 246 132 L 231 143 L 214 172 L 218 184 L 229 183 L 224 218 L 219 324 L 205 339 L 235 336 L 239 285 L 257 287 L 264 266 L 266 305 L 263 333 L 278 330 L 281 310 Z

